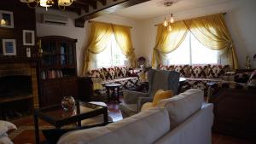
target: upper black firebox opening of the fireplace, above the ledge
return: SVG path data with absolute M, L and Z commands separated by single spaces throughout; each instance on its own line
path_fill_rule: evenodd
M 0 97 L 32 95 L 31 76 L 14 75 L 0 78 Z

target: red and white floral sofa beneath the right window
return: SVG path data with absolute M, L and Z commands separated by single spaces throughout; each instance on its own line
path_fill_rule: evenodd
M 186 78 L 186 81 L 180 85 L 179 92 L 187 89 L 202 89 L 205 96 L 207 96 L 209 83 L 224 81 L 225 73 L 230 72 L 229 65 L 160 65 L 159 69 L 176 71 L 180 73 L 182 78 Z

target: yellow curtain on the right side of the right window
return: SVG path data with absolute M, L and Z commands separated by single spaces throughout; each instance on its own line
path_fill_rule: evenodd
M 228 53 L 230 66 L 238 67 L 236 51 L 223 14 L 212 14 L 200 18 L 184 20 L 189 31 L 207 48 Z

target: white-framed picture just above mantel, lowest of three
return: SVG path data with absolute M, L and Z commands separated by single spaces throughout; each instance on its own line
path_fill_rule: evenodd
M 3 39 L 3 55 L 16 55 L 15 39 Z

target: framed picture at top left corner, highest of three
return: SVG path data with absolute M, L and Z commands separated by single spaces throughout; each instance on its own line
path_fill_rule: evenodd
M 14 28 L 13 12 L 0 10 L 0 27 Z

